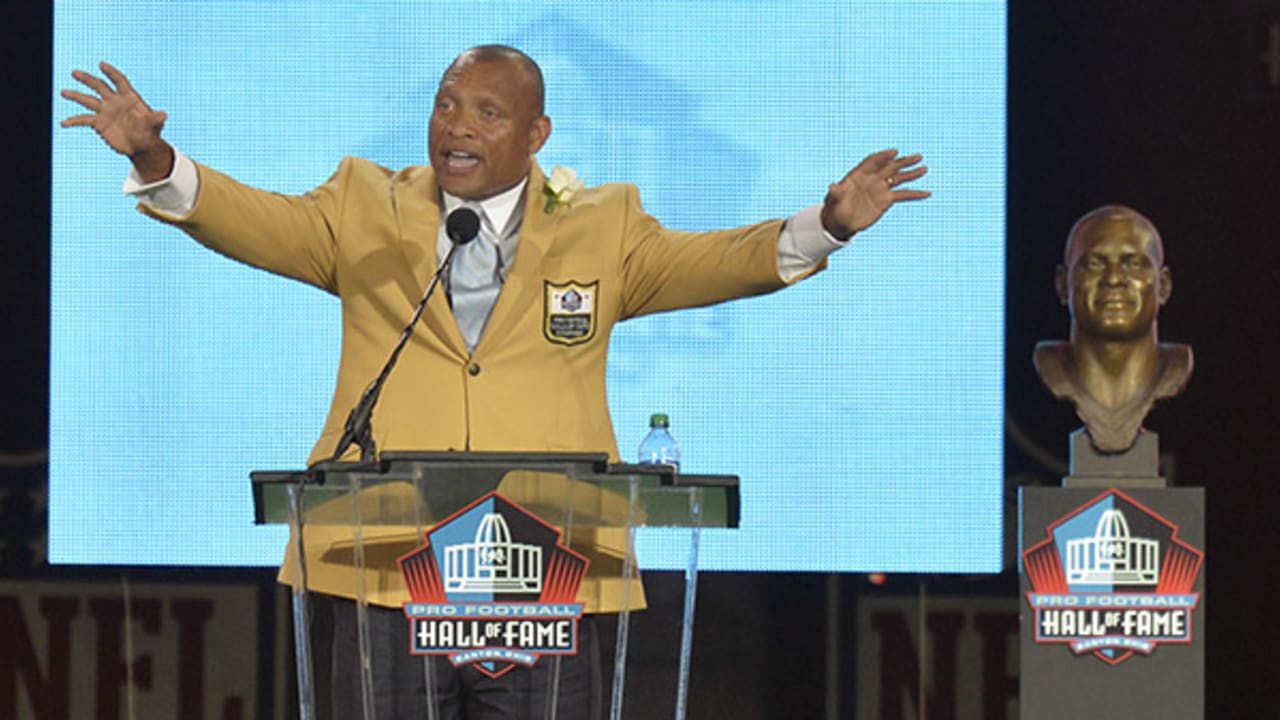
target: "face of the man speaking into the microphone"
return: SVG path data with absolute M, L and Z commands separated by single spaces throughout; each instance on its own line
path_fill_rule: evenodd
M 466 55 L 445 72 L 428 140 L 443 190 L 484 200 L 529 174 L 530 158 L 550 135 L 531 82 L 515 61 Z

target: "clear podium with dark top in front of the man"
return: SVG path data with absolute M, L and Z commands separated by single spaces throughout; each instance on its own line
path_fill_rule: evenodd
M 436 538 L 457 536 L 456 529 L 470 533 L 465 521 L 484 512 L 484 509 L 477 509 L 477 501 L 494 496 L 504 507 L 513 503 L 541 521 L 532 523 L 534 527 L 549 527 L 558 532 L 558 543 L 563 550 L 550 548 L 557 557 L 586 559 L 577 600 L 582 602 L 582 612 L 593 614 L 599 630 L 607 717 L 682 720 L 686 716 L 699 530 L 737 527 L 736 477 L 685 475 L 654 465 L 611 465 L 603 454 L 384 452 L 376 462 L 332 461 L 316 464 L 306 471 L 257 471 L 252 473 L 252 480 L 256 521 L 288 523 L 291 527 L 283 575 L 293 587 L 298 706 L 303 720 L 324 717 L 324 714 L 316 712 L 316 683 L 328 682 L 328 678 L 317 678 L 315 673 L 310 632 L 312 597 L 308 591 L 355 597 L 364 720 L 388 720 L 376 715 L 371 701 L 375 678 L 367 607 L 370 603 L 401 607 L 406 601 L 404 577 L 436 578 L 433 587 L 445 587 L 451 582 L 454 583 L 452 587 L 461 587 L 456 584 L 460 580 L 447 578 L 448 568 L 454 565 L 452 557 L 447 562 L 428 561 L 434 575 L 430 571 L 402 575 L 398 562 L 407 566 L 428 555 L 443 560 L 443 552 L 436 552 L 439 548 L 434 547 Z M 494 524 L 486 519 L 480 524 L 483 529 L 474 532 L 474 542 L 468 546 L 506 543 L 497 552 L 497 546 L 485 546 L 481 556 L 502 560 L 515 555 L 508 548 L 526 547 L 511 544 L 516 530 L 508 529 L 504 521 Z M 648 603 L 649 611 L 632 618 L 634 612 L 646 607 L 634 551 L 635 529 L 641 527 L 671 528 L 677 534 L 681 552 L 687 551 L 687 562 L 682 593 L 654 598 Z M 428 538 L 433 538 L 430 550 L 424 547 Z M 527 547 L 530 550 L 521 552 L 534 552 L 532 546 Z M 489 566 L 484 570 L 490 578 L 494 573 L 511 573 L 509 568 Z M 511 582 L 509 577 L 507 582 Z M 413 587 L 420 587 L 420 583 L 413 583 Z M 415 612 L 439 612 L 442 607 L 494 611 L 492 605 L 480 607 L 485 605 L 483 602 L 445 606 L 417 603 L 416 597 L 412 600 L 406 609 L 411 618 L 417 616 Z M 655 607 L 654 602 L 662 606 Z M 526 607 L 518 602 L 502 605 L 515 610 Z M 493 626 L 497 637 L 497 625 L 476 626 Z M 411 653 L 410 641 L 406 638 L 403 646 L 406 653 Z M 612 655 L 608 652 L 611 646 Z M 521 656 L 518 651 L 494 652 L 506 653 L 503 657 Z M 556 717 L 558 693 L 561 655 L 556 652 L 547 651 L 535 660 L 536 664 L 550 665 L 545 694 L 548 707 L 536 715 L 549 720 Z M 524 659 L 527 662 L 529 655 L 525 653 Z M 424 655 L 419 660 L 415 656 L 413 661 L 424 664 L 426 716 L 435 720 L 433 657 Z M 486 666 L 500 667 L 500 664 Z M 630 683 L 628 670 L 632 675 Z

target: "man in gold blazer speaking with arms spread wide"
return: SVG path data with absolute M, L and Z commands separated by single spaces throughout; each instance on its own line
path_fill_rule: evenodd
M 378 446 L 602 451 L 617 459 L 604 392 L 616 322 L 783 287 L 820 269 L 829 252 L 895 202 L 928 196 L 897 187 L 925 168 L 919 155 L 893 150 L 858 164 L 829 187 L 820 206 L 788 220 L 727 231 L 666 229 L 644 213 L 630 184 L 588 188 L 573 197 L 548 195 L 534 160 L 552 129 L 543 111 L 541 70 L 518 50 L 488 45 L 458 55 L 440 79 L 429 167 L 392 172 L 348 158 L 326 183 L 287 197 L 243 186 L 177 152 L 161 137 L 166 115 L 152 110 L 123 73 L 105 63 L 101 69 L 106 79 L 73 73 L 92 92 L 65 90 L 63 96 L 90 111 L 63 124 L 92 127 L 132 160 L 127 190 L 138 195 L 145 213 L 219 252 L 342 299 L 342 364 L 312 461 L 335 452 L 347 413 L 378 374 L 425 278 L 449 249 L 443 219 L 456 208 L 476 209 L 480 237 L 458 252 L 448 297 L 438 293 L 428 304 L 422 325 L 387 382 L 374 415 Z M 479 279 L 468 269 L 474 266 L 481 268 Z M 556 288 L 570 286 L 590 293 L 588 322 L 547 322 L 559 297 Z M 326 547 L 310 534 L 307 547 L 308 587 L 352 597 L 352 569 L 328 561 Z M 289 565 L 282 573 L 287 580 L 293 577 Z M 407 600 L 394 571 L 370 582 L 372 603 L 398 609 Z M 616 610 L 617 585 L 589 578 L 579 600 L 588 612 Z M 351 618 L 349 603 L 338 602 L 335 680 L 358 676 L 343 669 L 355 662 L 352 650 L 342 644 L 355 635 Z M 376 621 L 387 646 L 402 647 L 399 614 L 387 610 Z M 586 638 L 589 653 L 596 652 L 593 643 Z M 558 717 L 598 716 L 599 676 L 591 657 L 571 660 L 562 670 L 566 689 Z M 502 683 L 465 670 L 448 675 L 442 680 L 451 703 L 445 716 L 540 716 L 541 665 L 512 671 Z M 413 682 L 412 669 L 403 665 L 378 674 L 401 671 Z M 421 671 L 417 675 L 420 685 Z M 358 689 L 348 691 L 335 691 L 343 696 L 335 697 L 335 716 L 353 712 L 343 703 L 352 697 L 358 702 Z M 380 698 L 379 707 L 387 710 L 379 716 L 417 711 L 412 702 L 392 697 L 383 705 Z

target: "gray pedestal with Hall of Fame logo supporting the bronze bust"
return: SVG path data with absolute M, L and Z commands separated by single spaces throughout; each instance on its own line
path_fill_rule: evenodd
M 1024 720 L 1204 716 L 1204 491 L 1165 488 L 1147 436 L 1073 438 L 1064 487 L 1019 493 Z

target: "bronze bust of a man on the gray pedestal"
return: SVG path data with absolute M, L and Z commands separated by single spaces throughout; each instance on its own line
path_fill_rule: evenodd
M 1192 373 L 1190 347 L 1156 337 L 1174 290 L 1160 233 L 1121 205 L 1087 213 L 1068 234 L 1055 287 L 1070 309 L 1071 337 L 1039 343 L 1036 369 L 1075 405 L 1094 448 L 1129 450 L 1151 406 L 1181 392 Z

